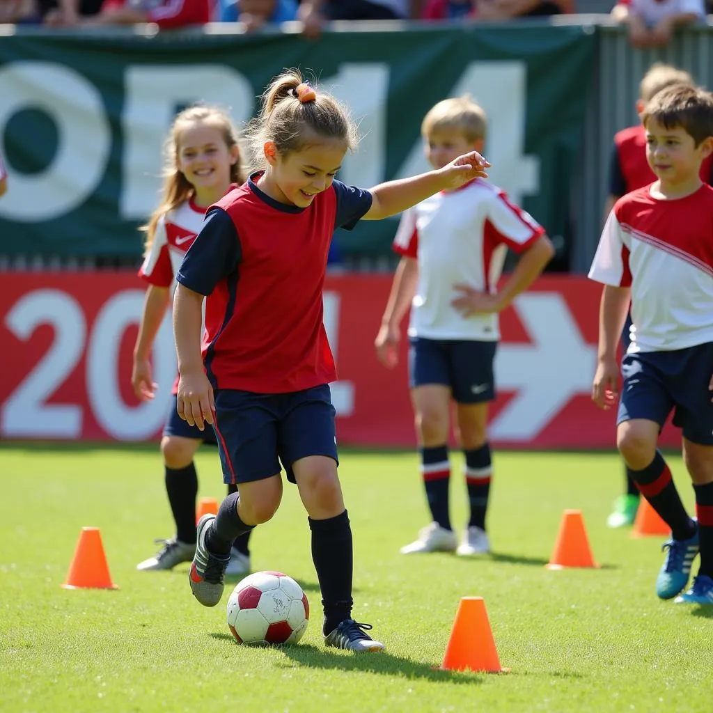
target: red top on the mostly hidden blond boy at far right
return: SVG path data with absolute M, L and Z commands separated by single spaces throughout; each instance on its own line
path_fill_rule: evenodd
M 626 195 L 632 190 L 643 188 L 656 180 L 646 160 L 646 129 L 642 124 L 618 131 L 614 136 L 615 165 L 610 176 L 611 195 Z M 713 156 L 708 156 L 701 164 L 701 180 L 713 183 Z

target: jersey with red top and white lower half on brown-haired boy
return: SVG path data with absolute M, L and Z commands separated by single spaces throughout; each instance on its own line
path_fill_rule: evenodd
M 713 188 L 677 200 L 650 189 L 617 200 L 589 277 L 631 287 L 630 353 L 713 342 Z

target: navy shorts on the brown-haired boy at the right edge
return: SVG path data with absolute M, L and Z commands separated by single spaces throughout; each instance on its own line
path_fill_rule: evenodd
M 684 438 L 713 446 L 713 342 L 672 352 L 627 354 L 617 424 L 647 419 L 660 426 L 671 411 Z

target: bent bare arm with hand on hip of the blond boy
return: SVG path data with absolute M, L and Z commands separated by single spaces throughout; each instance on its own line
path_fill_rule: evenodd
M 465 317 L 471 314 L 488 314 L 502 312 L 515 297 L 528 289 L 530 284 L 542 274 L 545 265 L 552 260 L 555 249 L 547 235 L 540 235 L 518 260 L 510 277 L 497 294 L 480 292 L 468 284 L 454 284 L 453 287 L 461 294 L 451 304 L 463 313 Z

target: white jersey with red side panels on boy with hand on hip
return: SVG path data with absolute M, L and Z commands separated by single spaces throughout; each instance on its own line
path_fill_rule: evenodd
M 508 247 L 523 252 L 544 232 L 502 190 L 480 178 L 404 212 L 394 250 L 419 263 L 409 336 L 496 342 L 498 315 L 463 317 L 451 305 L 458 296 L 453 285 L 495 294 Z

